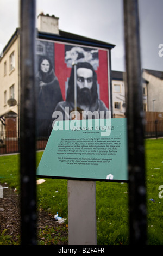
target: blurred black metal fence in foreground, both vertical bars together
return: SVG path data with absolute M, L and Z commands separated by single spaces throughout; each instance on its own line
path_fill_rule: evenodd
M 36 245 L 35 1 L 21 0 L 21 242 Z M 130 244 L 146 244 L 146 189 L 138 1 L 124 0 Z

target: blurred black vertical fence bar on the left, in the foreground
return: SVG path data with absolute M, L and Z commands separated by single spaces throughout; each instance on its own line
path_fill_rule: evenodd
M 35 0 L 20 1 L 21 244 L 37 244 L 35 157 Z

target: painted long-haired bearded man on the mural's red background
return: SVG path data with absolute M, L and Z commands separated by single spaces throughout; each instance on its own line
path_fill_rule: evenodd
M 97 75 L 92 65 L 87 62 L 80 62 L 76 65 L 77 70 L 77 108 L 83 111 L 108 111 L 105 104 L 99 99 L 97 94 Z M 65 112 L 65 107 L 68 107 L 69 113 Z M 71 75 L 68 81 L 68 89 L 66 101 L 59 102 L 55 111 L 61 111 L 63 118 L 68 120 L 70 113 L 74 110 L 74 68 L 71 70 Z M 66 114 L 66 116 L 65 116 Z

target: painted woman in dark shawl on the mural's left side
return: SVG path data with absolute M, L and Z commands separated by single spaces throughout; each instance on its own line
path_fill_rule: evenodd
M 55 106 L 63 100 L 58 79 L 55 76 L 51 60 L 47 56 L 42 56 L 39 59 L 39 72 L 36 75 L 36 81 L 39 134 L 47 135 Z

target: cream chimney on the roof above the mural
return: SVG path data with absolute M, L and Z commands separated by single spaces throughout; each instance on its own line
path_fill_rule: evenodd
M 37 18 L 38 31 L 51 34 L 59 34 L 59 18 L 55 17 L 54 15 L 49 16 L 49 14 L 45 15 L 43 13 L 40 13 Z

